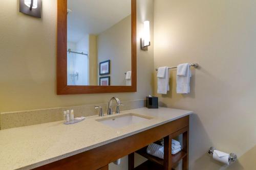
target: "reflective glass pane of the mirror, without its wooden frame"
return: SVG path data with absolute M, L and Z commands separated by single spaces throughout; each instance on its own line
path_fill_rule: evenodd
M 131 86 L 131 0 L 68 0 L 69 86 Z

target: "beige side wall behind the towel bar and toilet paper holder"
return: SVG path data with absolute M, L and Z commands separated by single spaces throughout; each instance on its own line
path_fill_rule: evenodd
M 229 169 L 255 168 L 256 1 L 154 2 L 155 67 L 200 65 L 191 68 L 190 94 L 176 93 L 174 69 L 170 92 L 158 95 L 163 106 L 195 112 L 189 169 L 225 168 L 206 154 L 211 146 L 237 153 Z

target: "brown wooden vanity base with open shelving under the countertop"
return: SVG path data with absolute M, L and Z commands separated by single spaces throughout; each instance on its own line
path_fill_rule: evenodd
M 160 167 L 157 170 L 169 170 L 180 160 L 182 160 L 182 169 L 188 169 L 188 131 L 189 115 L 35 169 L 106 170 L 109 169 L 109 163 L 126 155 L 129 155 L 129 170 L 150 169 L 148 167 L 153 166 Z M 183 134 L 182 151 L 176 155 L 172 155 L 172 138 L 179 134 Z M 163 160 L 148 155 L 145 152 L 148 144 L 161 138 L 164 138 L 165 143 Z M 148 159 L 146 163 L 152 165 L 147 166 L 146 163 L 143 163 L 134 168 L 134 152 L 146 157 Z

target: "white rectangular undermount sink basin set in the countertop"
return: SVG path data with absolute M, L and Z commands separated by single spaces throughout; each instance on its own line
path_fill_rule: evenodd
M 144 122 L 152 118 L 153 117 L 148 117 L 140 114 L 128 113 L 113 117 L 97 119 L 97 121 L 112 128 L 122 128 L 132 124 Z

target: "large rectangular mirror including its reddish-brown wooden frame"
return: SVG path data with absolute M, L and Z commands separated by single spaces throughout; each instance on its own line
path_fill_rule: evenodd
M 57 94 L 136 92 L 136 0 L 57 1 Z

